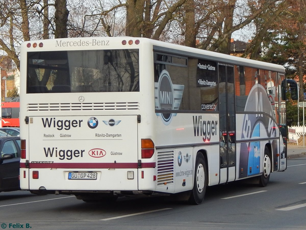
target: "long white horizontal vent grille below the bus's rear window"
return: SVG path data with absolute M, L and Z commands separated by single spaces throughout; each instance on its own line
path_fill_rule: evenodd
M 108 103 L 39 103 L 28 104 L 28 111 L 54 110 L 139 110 L 138 102 Z

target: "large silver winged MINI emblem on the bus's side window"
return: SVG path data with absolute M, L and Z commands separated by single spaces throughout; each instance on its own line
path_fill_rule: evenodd
M 155 110 L 163 110 L 156 115 L 162 117 L 162 122 L 165 125 L 169 125 L 172 117 L 177 115 L 177 113 L 173 113 L 173 110 L 180 108 L 184 85 L 172 84 L 169 72 L 163 70 L 159 75 L 158 82 L 155 82 L 154 88 Z

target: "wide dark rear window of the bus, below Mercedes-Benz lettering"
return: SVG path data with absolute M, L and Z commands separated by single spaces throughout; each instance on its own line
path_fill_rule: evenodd
M 138 49 L 28 52 L 27 94 L 135 91 Z

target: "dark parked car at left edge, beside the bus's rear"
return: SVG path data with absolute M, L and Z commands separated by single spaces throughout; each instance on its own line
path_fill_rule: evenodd
M 20 190 L 20 137 L 0 136 L 0 192 Z

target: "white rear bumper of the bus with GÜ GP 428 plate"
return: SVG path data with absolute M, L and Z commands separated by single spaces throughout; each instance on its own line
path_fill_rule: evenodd
M 22 178 L 22 189 L 60 194 L 74 192 L 105 192 L 155 190 L 155 168 L 144 169 L 50 169 L 31 168 Z M 23 173 L 23 170 L 21 169 Z M 35 178 L 35 175 L 37 178 Z M 34 178 L 33 178 L 34 177 Z M 23 181 L 28 180 L 28 186 Z M 50 192 L 49 192 L 50 191 Z

